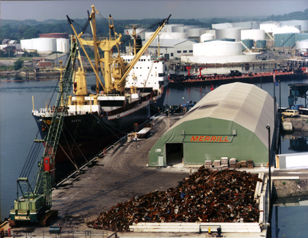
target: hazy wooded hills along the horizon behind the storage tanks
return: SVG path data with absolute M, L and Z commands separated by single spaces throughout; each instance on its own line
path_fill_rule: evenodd
M 279 16 L 268 16 L 267 18 L 257 19 L 257 18 L 246 18 L 245 21 L 289 21 L 289 20 L 307 20 L 308 19 L 308 9 L 304 12 L 291 12 L 290 14 L 284 14 Z M 211 28 L 211 24 L 216 23 L 234 23 L 242 21 L 241 18 L 208 18 L 208 19 L 172 19 L 170 18 L 170 24 L 184 24 L 184 25 L 198 25 L 201 27 Z M 76 27 L 77 32 L 80 32 L 87 19 L 75 19 L 74 27 Z M 142 19 L 142 20 L 114 20 L 114 25 L 116 27 L 116 32 L 123 34 L 124 30 L 131 23 L 139 24 L 143 27 L 152 27 L 158 24 L 162 19 Z M 1 31 L 0 40 L 11 39 L 17 40 L 20 43 L 22 39 L 38 38 L 40 34 L 46 33 L 68 33 L 73 34 L 73 30 L 66 20 L 46 20 L 38 22 L 36 20 L 25 20 L 25 21 L 15 21 L 15 20 L 1 20 Z M 108 19 L 97 19 L 97 27 L 99 29 L 98 33 L 100 36 L 107 36 L 109 33 L 108 29 Z M 88 27 L 86 33 L 90 34 L 90 27 Z

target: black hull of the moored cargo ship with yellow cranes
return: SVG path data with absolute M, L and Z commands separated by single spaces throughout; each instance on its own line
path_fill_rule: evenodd
M 133 124 L 142 123 L 150 117 L 150 103 L 145 102 L 116 116 L 82 114 L 65 116 L 64 127 L 60 135 L 55 155 L 55 164 L 72 159 L 86 161 L 100 153 L 104 148 L 116 142 L 133 129 Z M 40 135 L 44 138 L 48 132 L 51 117 L 34 116 Z

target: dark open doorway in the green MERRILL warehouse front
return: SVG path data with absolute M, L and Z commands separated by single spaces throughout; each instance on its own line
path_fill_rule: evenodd
M 183 163 L 183 143 L 166 143 L 166 165 Z

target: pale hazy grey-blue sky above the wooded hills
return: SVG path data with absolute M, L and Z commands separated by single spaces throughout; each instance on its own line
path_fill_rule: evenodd
M 270 16 L 304 11 L 307 0 L 70 0 L 0 1 L 0 18 L 44 21 L 87 18 L 91 5 L 107 18 L 116 20 L 166 18 L 224 18 L 229 16 Z

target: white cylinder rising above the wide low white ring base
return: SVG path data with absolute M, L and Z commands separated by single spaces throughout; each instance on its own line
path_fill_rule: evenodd
M 242 44 L 229 41 L 209 41 L 193 44 L 194 55 L 230 56 L 242 55 Z

